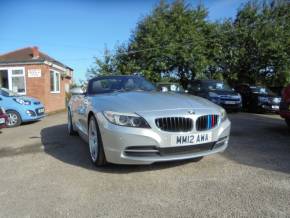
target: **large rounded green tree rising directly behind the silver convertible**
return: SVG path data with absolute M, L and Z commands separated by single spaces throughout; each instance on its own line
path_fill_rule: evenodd
M 130 50 L 141 73 L 153 81 L 170 75 L 186 85 L 201 77 L 206 68 L 205 37 L 207 11 L 192 8 L 182 0 L 171 5 L 161 1 L 134 31 Z

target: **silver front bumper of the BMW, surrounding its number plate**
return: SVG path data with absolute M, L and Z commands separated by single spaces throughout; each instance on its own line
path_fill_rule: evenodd
M 212 142 L 181 147 L 171 146 L 170 140 L 173 133 L 170 132 L 156 128 L 120 127 L 109 123 L 102 115 L 98 115 L 98 121 L 106 159 L 116 164 L 152 164 L 221 152 L 228 146 L 231 128 L 231 123 L 227 119 L 210 130 Z

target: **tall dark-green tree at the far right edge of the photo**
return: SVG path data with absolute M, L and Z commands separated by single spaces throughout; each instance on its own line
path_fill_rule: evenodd
M 289 82 L 290 4 L 262 3 L 249 1 L 235 19 L 237 78 L 252 84 L 283 86 Z

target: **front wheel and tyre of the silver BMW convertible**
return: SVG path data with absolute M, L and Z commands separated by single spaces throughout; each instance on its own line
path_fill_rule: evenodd
M 90 159 L 95 166 L 103 166 L 107 161 L 99 126 L 94 116 L 91 116 L 89 119 L 88 129 Z

